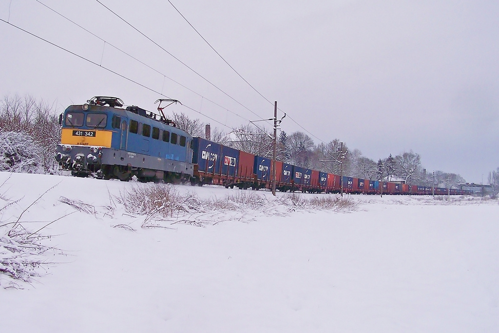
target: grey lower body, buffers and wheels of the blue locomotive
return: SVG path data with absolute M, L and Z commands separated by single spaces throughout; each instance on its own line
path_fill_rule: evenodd
M 129 181 L 136 176 L 141 182 L 174 184 L 185 183 L 190 178 L 190 174 L 182 172 L 189 172 L 189 165 L 184 162 L 111 148 L 58 145 L 55 159 L 59 162 L 60 169 L 69 170 L 77 177 Z M 139 164 L 144 167 L 137 166 Z

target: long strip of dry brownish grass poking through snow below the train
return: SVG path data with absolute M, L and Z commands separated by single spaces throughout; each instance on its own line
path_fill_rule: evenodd
M 351 211 L 357 204 L 336 195 L 318 195 L 307 198 L 295 193 L 279 199 L 253 191 L 239 191 L 223 198 L 200 199 L 196 193 L 181 194 L 171 184 L 141 184 L 125 190 L 117 202 L 127 213 L 144 216 L 142 228 L 167 228 L 164 222 L 195 226 L 220 221 L 247 221 L 256 215 L 285 216 L 297 209 Z

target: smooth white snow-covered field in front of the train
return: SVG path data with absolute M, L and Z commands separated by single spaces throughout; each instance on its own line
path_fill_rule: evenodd
M 499 332 L 497 200 L 317 210 L 172 186 L 185 209 L 162 217 L 122 201 L 152 184 L 1 172 L 0 185 L 2 262 L 9 228 L 25 239 L 55 221 L 29 236 L 49 248 L 28 255 L 48 263 L 28 283 L 0 272 L 1 332 Z

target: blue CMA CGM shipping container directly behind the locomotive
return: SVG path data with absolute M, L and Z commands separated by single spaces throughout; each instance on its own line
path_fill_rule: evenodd
M 198 165 L 198 171 L 220 173 L 221 145 L 200 137 L 193 138 L 192 145 L 193 163 Z

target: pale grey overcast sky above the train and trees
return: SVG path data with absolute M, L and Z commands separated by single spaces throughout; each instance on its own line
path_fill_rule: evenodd
M 229 127 L 272 117 L 276 100 L 316 143 L 338 138 L 374 160 L 412 149 L 428 172 L 470 182 L 499 166 L 499 1 L 171 1 L 270 103 L 164 0 L 101 2 L 213 85 L 95 0 L 40 2 L 106 42 L 36 0 L 0 0 L 1 19 L 156 91 L 0 21 L 0 96 L 62 111 L 111 95 L 153 110 L 160 92 Z

